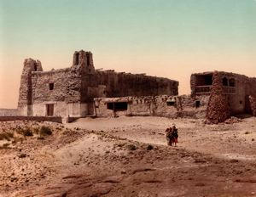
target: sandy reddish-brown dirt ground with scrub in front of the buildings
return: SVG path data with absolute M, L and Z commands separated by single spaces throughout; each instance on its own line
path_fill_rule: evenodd
M 166 144 L 173 123 L 177 147 Z M 52 134 L 39 134 L 42 126 Z M 1 197 L 256 196 L 255 117 L 218 125 L 162 117 L 15 121 L 0 122 L 1 133 Z

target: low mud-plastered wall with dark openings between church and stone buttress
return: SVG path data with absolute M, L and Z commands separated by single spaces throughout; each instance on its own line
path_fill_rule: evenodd
M 122 115 L 157 115 L 170 118 L 192 117 L 204 118 L 207 110 L 209 96 L 155 96 L 155 97 L 123 97 L 123 98 L 95 98 L 96 115 L 102 117 Z M 168 102 L 173 105 L 167 105 Z M 200 106 L 195 107 L 195 101 L 200 101 Z M 107 109 L 111 102 L 127 102 L 127 110 L 116 111 Z

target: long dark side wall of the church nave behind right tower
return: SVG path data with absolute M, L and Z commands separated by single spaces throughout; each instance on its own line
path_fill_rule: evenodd
M 99 71 L 90 76 L 90 86 L 106 86 L 106 97 L 177 95 L 178 82 L 155 76 Z

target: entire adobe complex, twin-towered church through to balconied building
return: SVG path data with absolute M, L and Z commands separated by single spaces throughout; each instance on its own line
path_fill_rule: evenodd
M 212 84 L 214 77 L 217 85 Z M 18 113 L 62 119 L 86 115 L 203 119 L 212 115 L 218 119 L 223 110 L 224 117 L 244 113 L 256 116 L 256 78 L 222 71 L 195 73 L 190 77 L 190 87 L 190 95 L 178 96 L 177 81 L 96 70 L 92 53 L 82 50 L 73 54 L 71 67 L 60 70 L 44 71 L 40 61 L 25 59 Z

